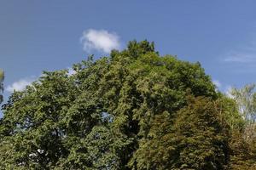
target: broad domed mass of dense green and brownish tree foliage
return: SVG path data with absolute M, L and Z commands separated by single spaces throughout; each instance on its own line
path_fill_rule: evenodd
M 44 71 L 3 105 L 1 169 L 253 168 L 236 105 L 199 63 L 133 41 L 73 70 Z

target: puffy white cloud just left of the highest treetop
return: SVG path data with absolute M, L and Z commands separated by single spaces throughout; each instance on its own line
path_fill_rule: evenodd
M 109 53 L 112 49 L 120 48 L 119 36 L 106 30 L 90 29 L 84 31 L 80 42 L 83 44 L 83 49 L 86 52 L 98 50 Z

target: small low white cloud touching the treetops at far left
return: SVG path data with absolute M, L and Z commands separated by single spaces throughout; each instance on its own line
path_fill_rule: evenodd
M 26 88 L 26 86 L 30 85 L 34 81 L 33 78 L 23 78 L 13 84 L 9 85 L 6 90 L 10 93 L 14 91 L 22 91 Z

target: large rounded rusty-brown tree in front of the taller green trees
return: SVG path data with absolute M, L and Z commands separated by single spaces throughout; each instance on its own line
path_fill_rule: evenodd
M 188 100 L 174 118 L 168 112 L 155 116 L 134 156 L 134 169 L 224 169 L 229 135 L 218 104 L 202 97 Z

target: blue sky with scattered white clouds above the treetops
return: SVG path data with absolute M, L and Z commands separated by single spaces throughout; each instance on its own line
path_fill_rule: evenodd
M 68 69 L 147 39 L 161 55 L 199 61 L 219 90 L 256 82 L 256 1 L 1 0 L 4 99 L 42 71 Z M 1 114 L 0 114 L 1 115 Z

